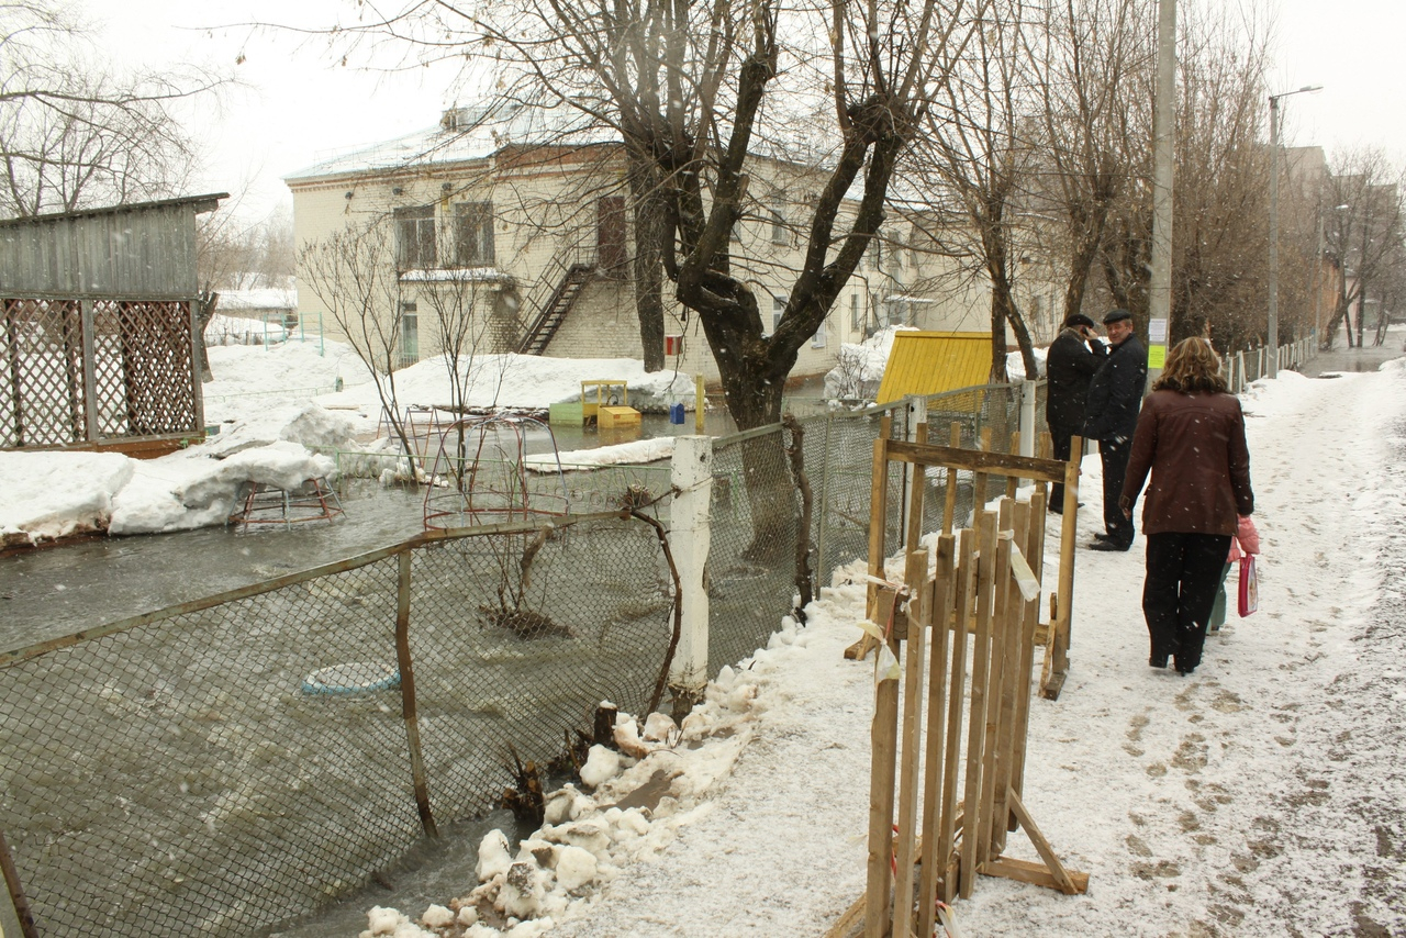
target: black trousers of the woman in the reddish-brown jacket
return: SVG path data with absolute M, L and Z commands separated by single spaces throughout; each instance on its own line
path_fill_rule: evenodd
M 1174 655 L 1182 669 L 1201 664 L 1229 553 L 1229 534 L 1147 534 L 1143 616 L 1154 657 Z

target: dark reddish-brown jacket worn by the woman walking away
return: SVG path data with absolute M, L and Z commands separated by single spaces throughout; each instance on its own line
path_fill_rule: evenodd
M 1153 391 L 1128 457 L 1125 509 L 1137 502 L 1149 471 L 1143 532 L 1234 534 L 1236 516 L 1254 512 L 1239 398 Z

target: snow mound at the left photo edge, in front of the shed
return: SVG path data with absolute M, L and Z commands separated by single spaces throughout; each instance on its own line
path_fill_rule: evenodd
M 0 547 L 105 530 L 132 473 L 120 453 L 0 453 Z

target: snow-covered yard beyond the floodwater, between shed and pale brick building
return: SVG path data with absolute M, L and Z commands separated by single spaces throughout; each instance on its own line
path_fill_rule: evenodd
M 319 354 L 319 347 L 323 353 Z M 215 380 L 204 385 L 205 420 L 219 433 L 157 460 L 117 453 L 0 453 L 0 547 L 86 532 L 148 534 L 224 525 L 246 482 L 295 488 L 326 477 L 333 450 L 373 450 L 381 398 L 350 347 L 328 342 L 209 349 Z M 565 360 L 479 356 L 464 364 L 470 406 L 547 408 L 581 398 L 581 383 L 627 381 L 630 404 L 692 406 L 693 375 L 647 374 L 630 359 Z M 450 402 L 443 357 L 395 374 L 402 408 Z M 337 391 L 337 384 L 343 390 Z M 394 447 L 392 447 L 394 450 Z M 671 442 L 564 454 L 574 465 L 668 458 Z

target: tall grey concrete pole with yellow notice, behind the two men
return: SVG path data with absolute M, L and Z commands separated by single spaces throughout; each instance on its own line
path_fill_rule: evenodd
M 1157 0 L 1157 100 L 1153 105 L 1152 277 L 1147 283 L 1147 380 L 1167 361 L 1171 322 L 1173 131 L 1177 110 L 1177 0 Z

